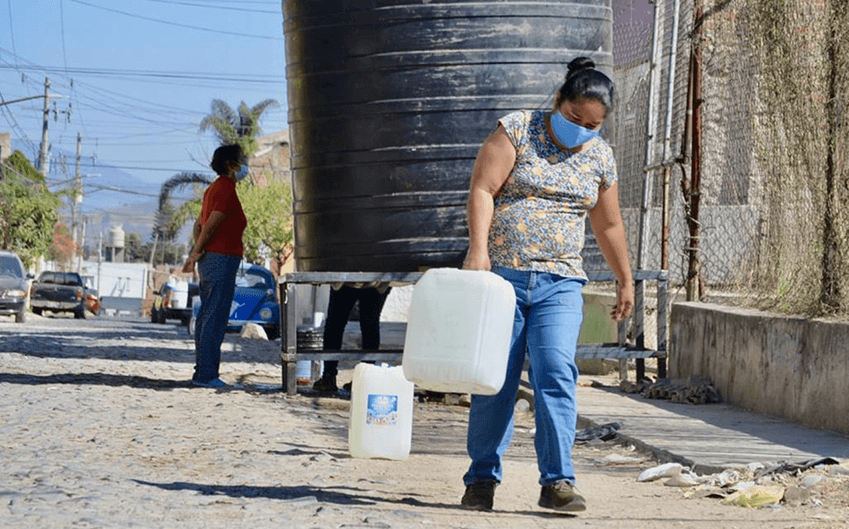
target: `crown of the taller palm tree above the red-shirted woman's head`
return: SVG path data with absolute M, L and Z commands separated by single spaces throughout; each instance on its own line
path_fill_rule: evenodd
M 274 99 L 266 99 L 248 108 L 242 101 L 238 112 L 220 99 L 212 100 L 212 112 L 200 122 L 200 131 L 212 128 L 221 145 L 238 143 L 245 156 L 256 152 L 256 136 L 259 134 L 259 118 L 269 107 L 277 106 Z

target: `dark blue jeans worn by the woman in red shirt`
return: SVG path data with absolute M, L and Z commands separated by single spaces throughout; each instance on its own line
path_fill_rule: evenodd
M 207 252 L 198 261 L 200 311 L 195 322 L 195 373 L 192 376 L 196 382 L 218 378 L 221 343 L 227 332 L 241 260 L 238 255 Z

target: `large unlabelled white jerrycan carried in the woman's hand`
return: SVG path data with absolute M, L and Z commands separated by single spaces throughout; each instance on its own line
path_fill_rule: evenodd
M 404 376 L 431 391 L 498 393 L 515 310 L 513 286 L 492 272 L 428 270 L 413 287 Z

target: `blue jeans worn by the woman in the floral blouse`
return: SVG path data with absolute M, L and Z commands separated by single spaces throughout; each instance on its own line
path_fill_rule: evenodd
M 466 448 L 472 463 L 466 485 L 501 482 L 501 459 L 513 436 L 513 406 L 525 363 L 534 392 L 540 485 L 575 483 L 572 445 L 578 418 L 575 349 L 583 320 L 584 281 L 494 266 L 516 291 L 516 315 L 504 386 L 496 395 L 472 395 Z

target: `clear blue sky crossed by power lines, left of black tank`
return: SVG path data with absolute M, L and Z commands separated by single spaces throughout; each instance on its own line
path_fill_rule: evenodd
M 276 99 L 261 127 L 287 128 L 282 25 L 279 0 L 0 0 L 0 96 L 43 94 L 45 77 L 63 96 L 49 125 L 52 189 L 73 176 L 80 133 L 84 157 L 132 176 L 128 196 L 149 192 L 181 171 L 212 174 L 216 140 L 198 126 L 213 99 L 234 108 Z M 0 106 L 0 131 L 34 165 L 42 105 Z M 64 173 L 60 151 L 71 156 Z

